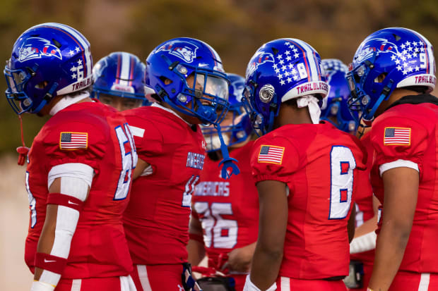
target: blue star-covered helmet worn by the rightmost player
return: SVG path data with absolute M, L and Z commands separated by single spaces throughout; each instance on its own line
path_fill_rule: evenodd
M 396 88 L 424 86 L 431 92 L 435 72 L 432 44 L 420 33 L 402 27 L 374 32 L 360 44 L 347 74 L 350 110 L 372 120 Z

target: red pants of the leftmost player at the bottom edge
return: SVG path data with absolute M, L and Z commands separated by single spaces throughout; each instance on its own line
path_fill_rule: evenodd
M 63 279 L 54 291 L 136 291 L 131 277 Z

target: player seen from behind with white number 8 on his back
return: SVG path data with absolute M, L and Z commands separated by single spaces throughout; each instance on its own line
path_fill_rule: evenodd
M 251 153 L 259 238 L 244 290 L 346 290 L 365 154 L 355 136 L 319 124 L 325 80 L 300 39 L 268 42 L 249 61 L 244 104 L 263 136 Z

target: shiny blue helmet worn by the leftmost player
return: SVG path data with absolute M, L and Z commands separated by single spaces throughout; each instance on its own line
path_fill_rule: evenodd
M 38 113 L 56 96 L 93 83 L 90 44 L 81 32 L 59 23 L 30 27 L 13 44 L 6 62 L 6 98 L 17 114 Z

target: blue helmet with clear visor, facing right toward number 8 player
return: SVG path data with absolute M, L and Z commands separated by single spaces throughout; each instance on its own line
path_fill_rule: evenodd
M 187 78 L 193 76 L 193 83 Z M 179 37 L 163 42 L 146 59 L 146 94 L 155 93 L 176 111 L 218 125 L 228 109 L 222 61 L 205 42 Z

